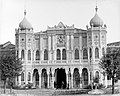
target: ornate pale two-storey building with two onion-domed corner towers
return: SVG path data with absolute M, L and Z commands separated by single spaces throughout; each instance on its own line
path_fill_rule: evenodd
M 34 32 L 26 19 L 16 31 L 16 54 L 23 60 L 23 72 L 18 85 L 31 82 L 39 88 L 82 88 L 101 74 L 99 59 L 106 50 L 106 25 L 97 14 L 86 30 L 67 26 L 62 22 L 46 31 Z

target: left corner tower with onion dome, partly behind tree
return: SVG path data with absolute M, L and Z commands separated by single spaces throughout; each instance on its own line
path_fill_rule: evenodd
M 23 61 L 23 72 L 22 72 L 23 79 L 19 78 L 21 80 L 20 83 L 22 84 L 24 81 L 25 83 L 27 83 L 28 81 L 25 77 L 28 77 L 27 72 L 31 70 L 30 65 L 32 65 L 32 61 L 34 58 L 33 55 L 34 33 L 33 33 L 32 25 L 26 19 L 26 10 L 24 11 L 23 20 L 19 23 L 19 28 L 15 29 L 15 31 L 16 31 L 15 34 L 16 54 L 18 58 L 21 58 Z

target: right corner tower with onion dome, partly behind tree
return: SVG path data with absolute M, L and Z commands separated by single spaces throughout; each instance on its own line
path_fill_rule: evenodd
M 95 15 L 90 20 L 90 27 L 87 26 L 87 45 L 89 52 L 89 63 L 91 65 L 91 74 L 96 76 L 96 72 L 101 70 L 99 68 L 99 60 L 106 52 L 106 25 L 98 16 L 98 7 L 95 8 Z M 102 83 L 102 80 L 99 80 Z

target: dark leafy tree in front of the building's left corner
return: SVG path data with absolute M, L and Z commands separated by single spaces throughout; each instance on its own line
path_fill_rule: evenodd
M 13 80 L 22 71 L 21 59 L 14 54 L 2 55 L 0 58 L 1 80 L 4 81 L 4 93 L 6 93 L 6 83 L 8 81 L 12 91 Z

